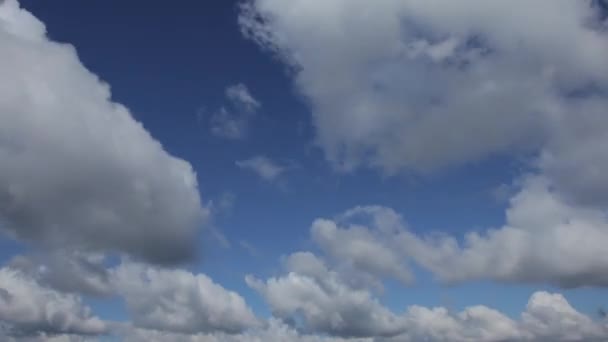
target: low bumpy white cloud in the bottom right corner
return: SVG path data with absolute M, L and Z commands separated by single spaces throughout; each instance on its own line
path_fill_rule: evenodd
M 534 293 L 518 321 L 484 307 L 451 314 L 445 308 L 410 307 L 407 332 L 395 341 L 603 341 L 608 322 L 593 321 L 559 294 Z

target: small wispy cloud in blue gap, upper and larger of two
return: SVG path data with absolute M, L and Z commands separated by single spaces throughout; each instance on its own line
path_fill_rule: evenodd
M 261 103 L 242 83 L 226 88 L 225 96 L 228 104 L 222 106 L 211 116 L 211 133 L 225 139 L 244 139 L 248 134 L 251 120 L 261 107 Z

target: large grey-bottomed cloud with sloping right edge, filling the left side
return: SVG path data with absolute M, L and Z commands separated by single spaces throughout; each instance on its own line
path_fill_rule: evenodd
M 15 0 L 0 3 L 0 54 L 0 227 L 50 246 L 191 257 L 207 212 L 190 164 Z

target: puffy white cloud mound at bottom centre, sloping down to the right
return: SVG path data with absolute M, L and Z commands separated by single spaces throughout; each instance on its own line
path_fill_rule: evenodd
M 362 289 L 343 283 L 310 253 L 290 256 L 287 273 L 267 281 L 252 276 L 247 284 L 257 290 L 274 315 L 291 320 L 305 331 L 340 337 L 394 336 L 403 323 Z M 294 260 L 295 259 L 295 260 Z

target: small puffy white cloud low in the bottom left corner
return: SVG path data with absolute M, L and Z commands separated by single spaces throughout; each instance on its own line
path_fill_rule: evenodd
M 80 297 L 38 284 L 22 272 L 0 269 L 0 322 L 13 336 L 97 335 L 106 325 L 91 314 Z

